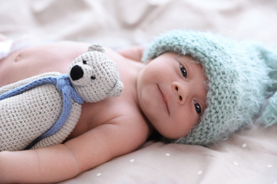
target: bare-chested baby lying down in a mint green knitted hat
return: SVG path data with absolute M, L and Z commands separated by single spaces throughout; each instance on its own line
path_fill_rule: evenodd
M 88 45 L 57 42 L 17 50 L 0 60 L 0 86 L 47 71 L 65 74 Z M 260 121 L 277 121 L 277 55 L 259 45 L 173 30 L 144 53 L 132 47 L 119 53 L 106 48 L 106 54 L 118 65 L 121 96 L 85 103 L 63 144 L 0 152 L 1 183 L 72 178 L 138 149 L 153 132 L 165 142 L 209 146 L 251 124 L 264 106 Z

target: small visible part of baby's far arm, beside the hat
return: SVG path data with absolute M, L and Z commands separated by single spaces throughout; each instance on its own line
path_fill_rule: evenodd
M 121 50 L 119 51 L 119 54 L 129 59 L 133 59 L 135 61 L 141 62 L 143 50 L 144 50 L 143 46 L 137 45 L 137 46 L 132 46 L 127 49 Z

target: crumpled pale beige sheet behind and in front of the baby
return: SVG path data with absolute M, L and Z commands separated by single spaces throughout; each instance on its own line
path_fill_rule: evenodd
M 276 0 L 0 0 L 0 33 L 100 42 L 120 50 L 176 28 L 277 42 Z M 277 112 L 276 112 L 277 113 Z M 63 183 L 277 183 L 277 126 L 210 148 L 148 142 Z

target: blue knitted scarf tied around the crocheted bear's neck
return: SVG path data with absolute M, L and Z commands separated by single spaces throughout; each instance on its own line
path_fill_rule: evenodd
M 49 137 L 50 135 L 55 134 L 56 132 L 58 132 L 58 130 L 60 130 L 60 128 L 64 125 L 64 123 L 67 121 L 70 115 L 72 105 L 71 98 L 75 100 L 77 103 L 84 103 L 82 98 L 72 88 L 69 76 L 67 74 L 60 76 L 48 76 L 42 79 L 38 79 L 36 81 L 31 81 L 30 83 L 24 86 L 14 88 L 11 91 L 3 93 L 0 96 L 0 100 L 9 98 L 11 96 L 16 96 L 20 93 L 23 93 L 24 91 L 28 91 L 31 88 L 36 88 L 37 86 L 41 86 L 43 84 L 54 84 L 55 86 L 57 86 L 58 91 L 60 91 L 60 93 L 62 93 L 63 95 L 63 111 L 59 119 L 55 122 L 55 124 L 52 127 L 50 127 L 50 129 L 48 129 L 46 132 L 41 134 L 40 137 L 33 140 L 33 142 L 31 142 L 31 144 L 29 144 L 26 147 L 26 149 L 31 149 L 31 147 L 38 143 L 41 139 L 45 139 L 46 137 Z

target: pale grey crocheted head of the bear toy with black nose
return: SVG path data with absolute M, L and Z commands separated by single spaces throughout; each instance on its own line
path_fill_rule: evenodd
M 101 45 L 89 46 L 87 52 L 70 65 L 68 75 L 73 88 L 86 102 L 97 102 L 107 96 L 120 96 L 124 86 L 112 59 L 104 54 Z

